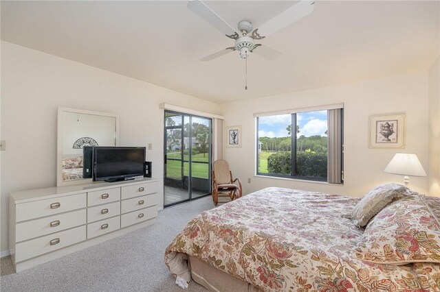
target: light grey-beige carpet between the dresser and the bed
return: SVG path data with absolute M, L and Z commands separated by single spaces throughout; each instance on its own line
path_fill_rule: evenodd
M 210 196 L 159 211 L 157 223 L 13 273 L 1 259 L 1 291 L 184 291 L 164 263 L 164 251 L 192 217 L 213 208 Z M 186 291 L 206 291 L 194 281 Z

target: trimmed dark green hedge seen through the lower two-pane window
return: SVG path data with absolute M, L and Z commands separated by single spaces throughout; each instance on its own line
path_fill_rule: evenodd
M 290 152 L 283 151 L 267 158 L 269 173 L 290 175 Z M 313 151 L 296 152 L 296 175 L 314 178 L 327 178 L 327 153 Z

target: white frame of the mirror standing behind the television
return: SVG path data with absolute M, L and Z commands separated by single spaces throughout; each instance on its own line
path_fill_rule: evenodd
M 78 108 L 64 108 L 58 106 L 58 128 L 57 128 L 57 145 L 56 145 L 56 186 L 72 186 L 75 184 L 90 184 L 93 182 L 91 178 L 83 178 L 82 180 L 63 181 L 63 113 L 78 112 L 78 114 L 94 114 L 96 116 L 115 118 L 115 146 L 119 146 L 119 117 L 109 112 L 95 112 L 93 110 L 80 110 Z

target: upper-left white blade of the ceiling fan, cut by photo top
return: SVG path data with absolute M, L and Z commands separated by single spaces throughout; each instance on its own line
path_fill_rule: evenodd
M 189 1 L 187 5 L 188 9 L 197 14 L 201 19 L 207 21 L 213 27 L 219 29 L 220 32 L 228 35 L 239 33 L 230 26 L 224 19 L 222 19 L 217 13 L 212 11 L 205 3 L 200 0 Z

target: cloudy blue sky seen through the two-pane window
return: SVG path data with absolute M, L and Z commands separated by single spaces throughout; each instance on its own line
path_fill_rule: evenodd
M 291 114 L 259 117 L 259 137 L 287 137 L 287 125 L 291 123 Z M 327 131 L 327 110 L 299 112 L 296 119 L 300 127 L 298 136 L 325 136 Z

